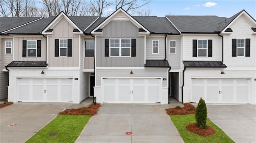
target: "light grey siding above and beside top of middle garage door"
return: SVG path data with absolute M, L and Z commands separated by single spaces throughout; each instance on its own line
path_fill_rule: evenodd
M 110 69 L 97 69 L 96 70 L 96 85 L 101 86 L 102 77 L 159 77 L 159 78 L 167 78 L 167 70 L 166 69 L 141 69 L 141 70 L 132 70 L 133 74 L 130 74 L 131 70 L 110 70 Z M 162 87 L 167 87 L 167 80 L 162 79 Z

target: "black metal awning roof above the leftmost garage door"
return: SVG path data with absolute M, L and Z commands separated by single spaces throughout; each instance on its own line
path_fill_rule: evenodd
M 6 67 L 47 67 L 46 61 L 12 61 Z

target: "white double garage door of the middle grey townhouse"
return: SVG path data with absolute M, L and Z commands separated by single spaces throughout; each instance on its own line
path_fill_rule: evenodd
M 160 78 L 103 78 L 104 102 L 160 103 Z

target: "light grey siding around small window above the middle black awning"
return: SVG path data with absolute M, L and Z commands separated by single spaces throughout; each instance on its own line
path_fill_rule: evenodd
M 159 53 L 152 54 L 152 41 L 158 40 L 159 46 Z M 164 36 L 163 37 L 146 37 L 146 59 L 147 60 L 162 60 L 165 58 L 165 43 L 164 43 Z

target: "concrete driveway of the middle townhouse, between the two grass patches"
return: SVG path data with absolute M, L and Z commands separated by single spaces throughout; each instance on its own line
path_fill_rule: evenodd
M 164 106 L 170 104 L 102 104 L 76 143 L 182 143 Z

